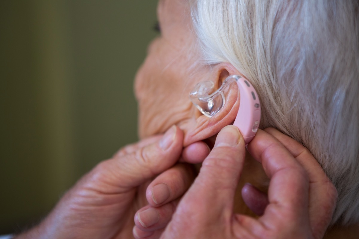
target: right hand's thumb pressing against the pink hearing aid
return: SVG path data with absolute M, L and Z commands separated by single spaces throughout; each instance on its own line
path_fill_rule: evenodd
M 224 127 L 162 237 L 208 238 L 203 234 L 210 233 L 211 238 L 215 238 L 214 232 L 225 237 L 228 229 L 225 224 L 233 215 L 234 193 L 244 157 L 244 140 L 238 128 L 233 125 Z M 196 230 L 191 230 L 193 225 Z

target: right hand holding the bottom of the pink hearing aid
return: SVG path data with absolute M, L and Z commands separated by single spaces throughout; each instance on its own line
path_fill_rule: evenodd
M 159 238 L 161 233 L 161 238 L 174 239 L 322 238 L 337 194 L 314 157 L 301 144 L 274 129 L 259 130 L 247 148 L 270 178 L 268 196 L 248 186 L 243 193 L 250 208 L 264 213 L 260 218 L 233 213 L 245 148 L 238 129 L 227 126 L 218 134 L 214 149 L 171 221 L 168 223 L 172 213 L 162 209 L 157 228 L 145 228 L 135 218 L 135 238 L 141 238 L 143 231 L 152 233 L 148 239 Z M 250 200 L 254 195 L 258 196 L 255 203 Z

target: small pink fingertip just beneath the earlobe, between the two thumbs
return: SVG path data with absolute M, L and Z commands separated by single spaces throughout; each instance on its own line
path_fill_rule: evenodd
M 202 141 L 195 142 L 183 149 L 180 162 L 202 163 L 210 152 L 211 150 L 206 143 Z

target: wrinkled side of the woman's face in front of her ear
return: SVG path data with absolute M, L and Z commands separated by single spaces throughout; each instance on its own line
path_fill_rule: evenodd
M 211 75 L 209 66 L 196 64 L 199 53 L 185 2 L 161 1 L 158 7 L 161 35 L 150 43 L 135 78 L 140 138 L 163 133 L 173 124 L 188 131 L 195 123 L 188 95 Z

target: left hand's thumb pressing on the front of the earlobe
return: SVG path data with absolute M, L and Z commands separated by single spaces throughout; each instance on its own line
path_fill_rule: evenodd
M 182 152 L 182 140 L 182 131 L 172 126 L 158 142 L 98 164 L 92 171 L 92 181 L 98 187 L 101 182 L 112 186 L 113 192 L 106 187 L 106 193 L 121 193 L 137 187 L 177 162 Z

